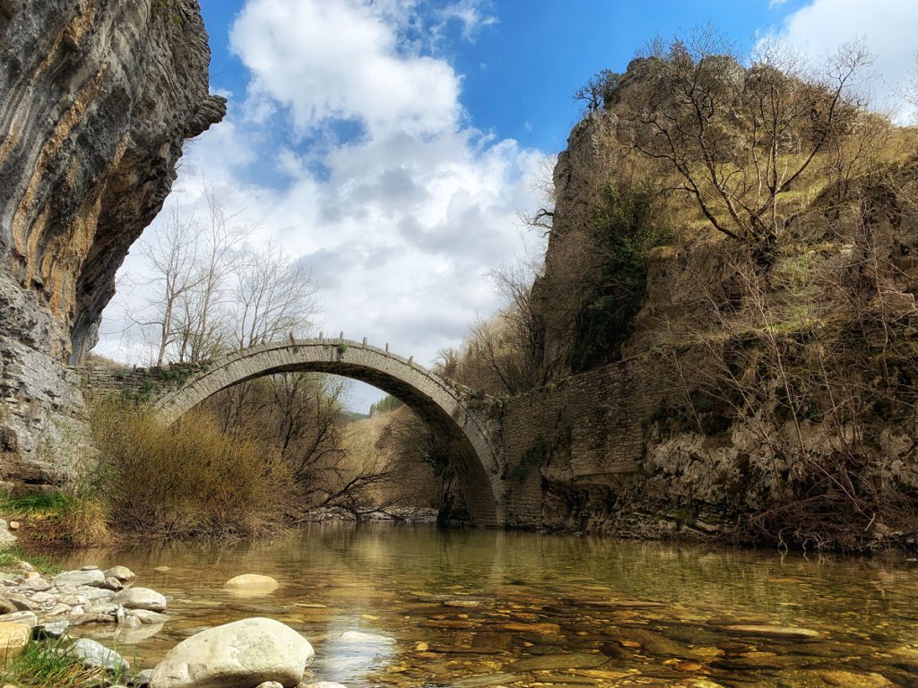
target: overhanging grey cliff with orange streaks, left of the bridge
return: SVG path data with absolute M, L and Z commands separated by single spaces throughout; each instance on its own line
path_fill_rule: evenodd
M 95 344 L 115 272 L 157 214 L 208 94 L 196 0 L 0 0 L 0 471 L 75 460 L 64 369 Z

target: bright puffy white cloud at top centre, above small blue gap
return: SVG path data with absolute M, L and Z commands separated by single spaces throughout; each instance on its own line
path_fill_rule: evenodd
M 453 127 L 460 114 L 453 68 L 400 54 L 397 39 L 397 26 L 378 6 L 345 0 L 255 0 L 229 36 L 252 70 L 252 100 L 288 107 L 301 132 L 351 118 L 371 136 Z

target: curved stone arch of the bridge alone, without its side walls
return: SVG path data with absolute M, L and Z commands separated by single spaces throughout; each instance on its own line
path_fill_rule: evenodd
M 157 407 L 166 422 L 172 423 L 222 389 L 283 372 L 341 375 L 397 397 L 420 416 L 447 449 L 472 521 L 488 527 L 506 522 L 497 457 L 487 428 L 442 380 L 410 361 L 378 350 L 358 347 L 341 353 L 337 346 L 323 344 L 235 354 L 225 361 L 214 361 L 206 372 L 164 394 Z

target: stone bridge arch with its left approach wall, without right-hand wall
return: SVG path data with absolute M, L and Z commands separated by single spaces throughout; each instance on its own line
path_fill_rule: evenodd
M 261 344 L 213 361 L 170 368 L 83 371 L 90 391 L 124 391 L 149 399 L 167 423 L 233 384 L 277 372 L 328 372 L 370 383 L 409 405 L 455 461 L 476 525 L 507 522 L 499 423 L 493 400 L 444 380 L 411 359 L 363 342 L 304 339 Z

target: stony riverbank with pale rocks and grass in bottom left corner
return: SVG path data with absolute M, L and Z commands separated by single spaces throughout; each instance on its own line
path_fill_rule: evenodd
M 201 688 L 329 688 L 312 682 L 312 646 L 294 629 L 269 618 L 248 618 L 185 638 L 155 666 L 125 656 L 160 633 L 172 617 L 166 597 L 134 584 L 137 576 L 116 565 L 106 571 L 39 571 L 7 554 L 0 560 L 0 681 L 21 688 L 131 686 Z M 169 567 L 154 571 L 166 572 Z M 234 594 L 270 594 L 278 583 L 241 575 L 225 583 Z M 103 629 L 111 628 L 110 633 Z M 106 644 L 91 638 L 110 635 Z M 216 649 L 215 649 L 216 648 Z

